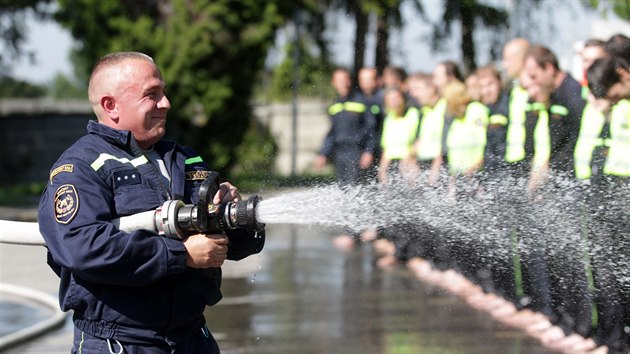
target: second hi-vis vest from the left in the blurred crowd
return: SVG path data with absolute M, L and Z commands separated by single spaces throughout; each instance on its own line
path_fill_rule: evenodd
M 440 98 L 435 106 L 424 106 L 418 139 L 418 160 L 433 160 L 442 151 L 442 134 L 444 133 L 444 115 L 446 99 Z

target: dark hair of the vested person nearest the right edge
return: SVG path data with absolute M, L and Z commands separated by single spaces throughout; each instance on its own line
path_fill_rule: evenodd
M 608 91 L 616 83 L 621 82 L 618 70 L 630 71 L 628 63 L 621 57 L 610 56 L 595 60 L 588 68 L 586 78 L 588 88 L 596 98 L 606 98 Z

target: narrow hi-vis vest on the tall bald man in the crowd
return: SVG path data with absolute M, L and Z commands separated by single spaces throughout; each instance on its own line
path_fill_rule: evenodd
M 529 95 L 521 86 L 510 92 L 509 122 L 506 134 L 505 161 L 518 162 L 525 158 L 525 112 Z

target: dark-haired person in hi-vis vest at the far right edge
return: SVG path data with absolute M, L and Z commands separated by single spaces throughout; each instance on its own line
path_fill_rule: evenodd
M 621 57 L 596 60 L 587 70 L 595 99 L 611 108 L 583 122 L 592 132 L 576 147 L 578 178 L 590 181 L 586 193 L 589 242 L 598 313 L 594 339 L 608 353 L 626 353 L 630 326 L 630 65 Z

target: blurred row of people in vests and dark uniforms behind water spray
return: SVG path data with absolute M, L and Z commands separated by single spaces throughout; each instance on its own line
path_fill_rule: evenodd
M 402 183 L 461 203 L 493 195 L 491 208 L 511 214 L 499 223 L 506 252 L 498 261 L 442 242 L 444 231 L 430 223 L 348 230 L 335 244 L 369 241 L 379 266 L 406 265 L 553 350 L 627 353 L 630 39 L 587 40 L 580 55 L 579 78 L 552 49 L 524 38 L 506 43 L 500 67 L 467 76 L 453 61 L 411 74 L 365 67 L 356 85 L 348 70 L 335 70 L 337 98 L 316 169 L 332 162 L 342 188 Z M 522 198 L 493 190 L 505 181 Z M 582 225 L 571 263 L 538 244 L 548 230 L 528 227 L 530 205 L 552 203 L 558 188 L 576 195 L 564 207 Z

